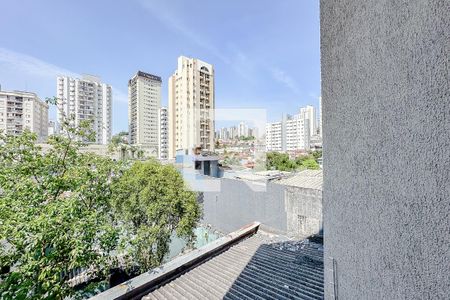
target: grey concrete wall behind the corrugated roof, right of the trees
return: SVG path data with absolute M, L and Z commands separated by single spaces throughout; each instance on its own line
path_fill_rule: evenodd
M 253 221 L 292 237 L 316 234 L 322 224 L 322 192 L 276 183 L 221 178 L 220 192 L 203 193 L 203 222 L 229 233 Z M 299 223 L 299 215 L 304 216 Z

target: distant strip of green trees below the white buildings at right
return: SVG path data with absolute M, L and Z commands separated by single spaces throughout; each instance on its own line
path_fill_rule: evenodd
M 308 155 L 297 157 L 295 160 L 289 158 L 287 153 L 269 152 L 266 156 L 267 170 L 294 171 L 294 170 L 318 170 L 320 169 L 318 159 L 322 157 L 322 151 L 310 152 Z

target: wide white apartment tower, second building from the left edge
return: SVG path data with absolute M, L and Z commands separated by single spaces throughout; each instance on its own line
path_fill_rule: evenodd
M 57 95 L 57 132 L 64 133 L 61 124 L 69 118 L 71 124 L 78 126 L 83 120 L 92 121 L 95 132 L 95 144 L 108 144 L 111 140 L 112 89 L 92 75 L 83 75 L 81 79 L 58 76 Z

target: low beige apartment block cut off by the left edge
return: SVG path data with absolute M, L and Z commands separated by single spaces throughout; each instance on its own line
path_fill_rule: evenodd
M 35 93 L 0 91 L 0 130 L 18 135 L 27 128 L 42 143 L 47 140 L 47 123 L 48 104 Z

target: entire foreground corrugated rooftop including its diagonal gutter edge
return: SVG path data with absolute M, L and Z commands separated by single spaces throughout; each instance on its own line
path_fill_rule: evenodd
M 96 299 L 323 299 L 323 247 L 250 224 Z

